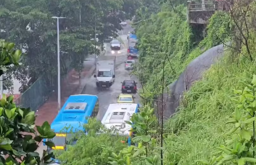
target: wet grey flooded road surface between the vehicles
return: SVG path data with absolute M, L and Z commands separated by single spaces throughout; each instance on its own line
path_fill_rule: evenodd
M 126 25 L 124 27 L 123 31 L 119 31 L 119 39 L 121 38 L 123 44 L 121 45 L 120 50 L 111 50 L 110 49 L 110 43 L 105 43 L 106 47 L 106 56 L 109 55 L 115 55 L 116 56 L 116 73 L 115 73 L 115 82 L 110 88 L 102 87 L 97 88 L 96 87 L 96 78 L 92 75 L 87 81 L 86 88 L 83 91 L 82 94 L 89 94 L 89 95 L 97 95 L 99 97 L 99 104 L 100 109 L 97 118 L 102 119 L 109 104 L 110 103 L 116 103 L 117 97 L 121 93 L 121 82 L 123 80 L 135 80 L 137 84 L 137 88 L 141 88 L 140 83 L 138 82 L 138 79 L 136 76 L 129 75 L 131 70 L 125 70 L 125 60 L 127 59 L 127 33 L 132 30 L 132 27 L 130 25 Z M 122 35 L 123 34 L 123 35 Z M 94 61 L 94 58 L 88 59 L 90 61 Z M 137 60 L 137 59 L 135 59 Z M 139 95 L 133 94 L 135 96 L 135 102 L 139 102 Z

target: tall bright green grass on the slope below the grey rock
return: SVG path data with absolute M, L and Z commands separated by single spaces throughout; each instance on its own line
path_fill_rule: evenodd
M 255 62 L 240 57 L 240 63 L 231 63 L 230 54 L 205 72 L 184 95 L 186 106 L 181 106 L 167 123 L 165 134 L 166 158 L 177 165 L 196 165 L 197 159 L 208 159 L 216 147 L 229 137 L 225 125 L 234 111 L 230 102 L 232 89 L 243 90 L 239 82 L 243 77 L 252 78 Z M 255 56 L 254 56 L 255 58 Z

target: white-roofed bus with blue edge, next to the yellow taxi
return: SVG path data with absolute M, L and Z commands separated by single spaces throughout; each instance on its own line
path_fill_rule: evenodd
M 130 121 L 131 116 L 134 113 L 139 112 L 139 104 L 137 103 L 112 103 L 109 104 L 108 109 L 101 120 L 101 123 L 106 126 L 106 128 L 119 128 L 119 135 L 123 136 L 121 143 L 127 142 L 129 146 L 132 145 L 133 133 L 130 131 L 133 127 L 125 121 Z M 125 125 L 123 128 L 122 125 Z

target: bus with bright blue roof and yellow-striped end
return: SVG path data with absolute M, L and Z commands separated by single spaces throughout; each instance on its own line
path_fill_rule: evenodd
M 99 100 L 95 95 L 71 95 L 51 123 L 51 129 L 56 133 L 53 139 L 48 139 L 55 147 L 48 150 L 66 150 L 66 145 L 76 143 L 74 133 L 84 131 L 83 125 L 87 117 L 96 117 L 99 112 Z M 46 139 L 44 139 L 46 141 Z M 44 143 L 43 143 L 44 144 Z M 44 144 L 45 145 L 45 144 Z M 56 163 L 57 159 L 52 158 Z

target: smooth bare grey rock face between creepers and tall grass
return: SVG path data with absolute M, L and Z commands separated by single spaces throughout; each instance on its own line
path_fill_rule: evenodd
M 228 43 L 229 44 L 229 43 Z M 164 107 L 163 116 L 164 119 L 170 118 L 175 113 L 176 109 L 180 105 L 180 99 L 182 98 L 183 92 L 188 91 L 192 86 L 193 82 L 202 78 L 204 71 L 208 70 L 212 64 L 216 63 L 223 57 L 224 49 L 226 46 L 223 44 L 215 46 L 202 55 L 198 56 L 181 73 L 176 81 L 170 84 L 164 92 Z M 157 100 L 161 100 L 161 96 Z M 161 113 L 162 103 L 155 102 L 155 109 L 158 109 L 158 115 Z

